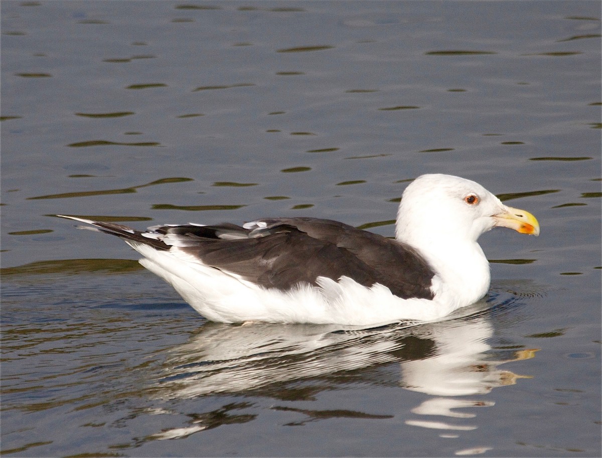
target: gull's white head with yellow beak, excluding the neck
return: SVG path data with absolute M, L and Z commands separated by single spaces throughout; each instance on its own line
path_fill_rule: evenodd
M 435 240 L 474 243 L 495 226 L 539 235 L 532 214 L 504 205 L 480 184 L 459 176 L 422 175 L 403 192 L 396 237 L 417 248 Z

